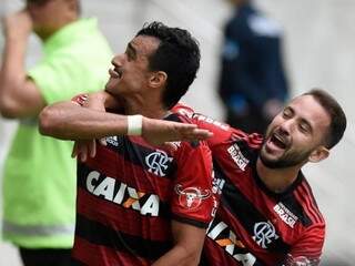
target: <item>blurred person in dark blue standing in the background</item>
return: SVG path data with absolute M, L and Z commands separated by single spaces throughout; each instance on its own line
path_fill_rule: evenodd
M 224 28 L 219 94 L 226 122 L 264 133 L 288 95 L 278 24 L 252 0 L 229 0 L 234 12 Z

